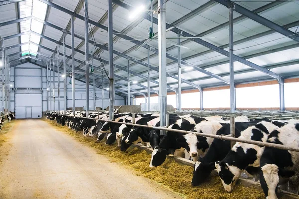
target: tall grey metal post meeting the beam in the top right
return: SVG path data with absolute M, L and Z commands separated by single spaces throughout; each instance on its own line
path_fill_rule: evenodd
M 230 75 L 230 108 L 231 113 L 235 112 L 235 82 L 234 82 L 234 4 L 229 8 L 229 75 Z M 230 118 L 231 136 L 235 137 L 235 117 Z M 236 142 L 231 141 L 231 148 Z

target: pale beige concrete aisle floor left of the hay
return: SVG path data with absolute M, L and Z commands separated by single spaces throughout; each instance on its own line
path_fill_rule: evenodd
M 0 147 L 0 199 L 181 198 L 42 120 L 16 122 Z

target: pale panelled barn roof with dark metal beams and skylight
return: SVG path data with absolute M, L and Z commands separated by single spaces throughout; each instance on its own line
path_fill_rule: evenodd
M 57 49 L 63 64 L 63 34 L 66 34 L 67 73 L 71 72 L 71 16 L 74 18 L 76 79 L 85 81 L 84 4 L 82 0 L 16 0 L 0 4 L 0 37 L 11 65 L 32 62 L 46 67 Z M 227 85 L 229 81 L 229 23 L 227 0 L 168 0 L 166 2 L 167 37 L 181 39 L 182 88 L 194 89 Z M 254 82 L 299 76 L 299 2 L 281 0 L 238 0 L 234 12 L 235 82 Z M 1 3 L 1 1 L 0 1 Z M 130 64 L 132 93 L 147 92 L 147 59 L 150 56 L 150 86 L 159 89 L 158 43 L 148 37 L 150 11 L 130 19 L 140 5 L 150 9 L 150 0 L 113 0 L 113 39 L 115 87 L 127 90 L 127 64 Z M 154 10 L 157 0 L 153 0 Z M 93 53 L 95 82 L 107 87 L 108 66 L 107 0 L 88 0 L 90 19 L 89 51 Z M 82 20 L 83 19 L 83 20 Z M 273 25 L 274 23 L 274 25 Z M 157 15 L 154 14 L 157 34 Z M 117 34 L 121 33 L 121 34 Z M 137 39 L 137 40 L 134 40 Z M 167 40 L 167 84 L 176 90 L 177 39 Z M 91 64 L 91 62 L 89 62 Z M 256 70 L 256 69 L 259 70 Z M 62 67 L 60 67 L 62 72 Z M 104 74 L 104 85 L 101 76 Z M 277 75 L 277 76 L 276 76 Z M 93 75 L 90 76 L 93 82 Z M 106 86 L 105 86 L 106 85 Z

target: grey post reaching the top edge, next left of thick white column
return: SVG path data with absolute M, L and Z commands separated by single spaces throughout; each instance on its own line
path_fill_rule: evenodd
M 113 66 L 113 29 L 112 29 L 112 0 L 108 0 L 108 51 L 109 51 L 109 119 L 114 118 L 114 66 Z

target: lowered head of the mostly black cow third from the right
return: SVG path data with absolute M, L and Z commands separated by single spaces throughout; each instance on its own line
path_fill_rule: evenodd
M 210 173 L 216 169 L 215 163 L 205 163 L 201 158 L 199 158 L 194 164 L 194 172 L 191 184 L 193 186 L 199 186 L 203 183 L 210 175 Z

